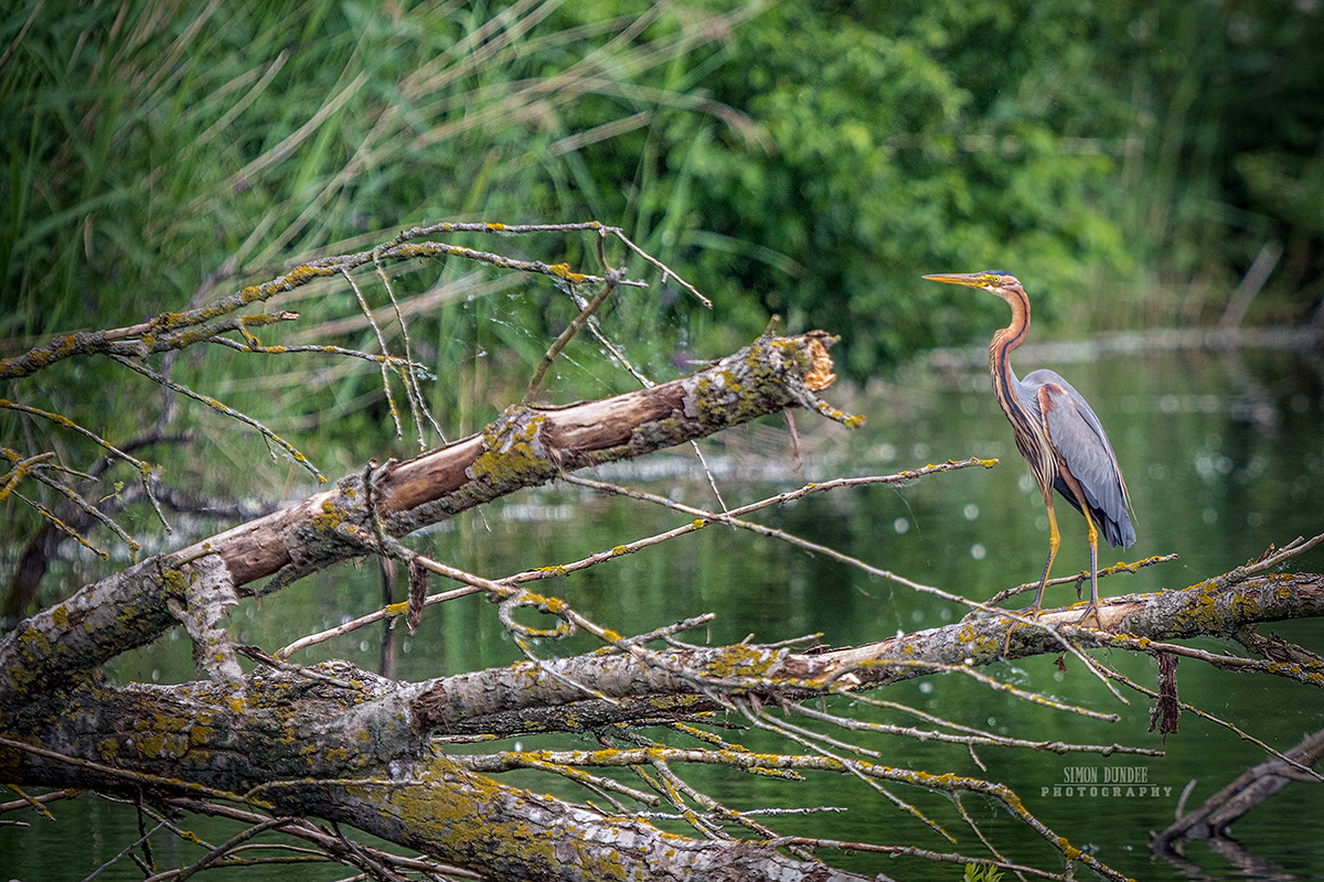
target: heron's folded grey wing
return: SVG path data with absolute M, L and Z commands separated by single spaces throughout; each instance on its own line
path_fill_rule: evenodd
M 1084 489 L 1108 545 L 1129 547 L 1136 530 L 1127 513 L 1127 484 L 1103 424 L 1071 383 L 1051 370 L 1025 378 L 1038 386 L 1039 411 L 1053 447 Z

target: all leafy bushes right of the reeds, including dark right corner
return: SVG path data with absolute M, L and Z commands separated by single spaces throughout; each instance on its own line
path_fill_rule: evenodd
M 1001 319 L 920 272 L 1009 268 L 1041 321 L 1074 301 L 1092 324 L 1182 321 L 1144 303 L 1155 279 L 1221 304 L 1278 235 L 1300 286 L 1324 270 L 1321 24 L 1304 7 L 780 5 L 710 78 L 773 148 L 703 144 L 691 238 L 743 247 L 696 257 L 699 275 L 846 333 L 857 376 Z

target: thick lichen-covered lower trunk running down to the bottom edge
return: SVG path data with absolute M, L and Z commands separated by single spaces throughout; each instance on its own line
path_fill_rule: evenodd
M 225 684 L 95 678 L 5 714 L 41 752 L 0 743 L 0 779 L 158 796 L 244 797 L 277 816 L 319 817 L 493 879 L 862 879 L 741 841 L 671 836 L 651 824 L 475 775 L 428 747 L 406 698 L 417 686 L 326 662 L 258 670 L 236 702 Z M 57 755 L 58 756 L 57 756 Z M 65 758 L 71 758 L 70 763 Z

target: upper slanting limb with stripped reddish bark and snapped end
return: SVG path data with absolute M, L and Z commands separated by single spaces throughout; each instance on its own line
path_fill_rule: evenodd
M 830 385 L 831 337 L 761 337 L 711 368 L 651 389 L 569 407 L 508 409 L 482 434 L 417 459 L 351 475 L 327 492 L 172 554 L 148 558 L 21 621 L 0 639 L 0 711 L 36 680 L 79 674 L 146 645 L 176 623 L 199 578 L 189 562 L 218 555 L 233 590 L 274 575 L 277 587 L 363 555 L 373 517 L 392 534 L 434 524 L 557 475 L 639 456 L 786 407 Z

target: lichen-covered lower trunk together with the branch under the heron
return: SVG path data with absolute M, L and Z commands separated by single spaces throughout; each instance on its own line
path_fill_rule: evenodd
M 1185 633 L 1192 627 L 1188 612 L 1201 604 L 1235 612 L 1243 623 L 1253 616 L 1299 615 L 1301 608 L 1317 612 L 1324 577 L 1266 577 L 1213 592 L 1201 584 L 1158 598 L 1162 604 L 1156 598 L 1121 604 L 1162 606 L 1170 632 Z M 1151 633 L 1166 636 L 1162 624 L 1151 618 Z M 959 659 L 980 652 L 984 644 L 998 645 L 1004 627 L 997 620 L 963 623 L 912 635 L 908 643 L 891 640 L 818 656 L 737 645 L 658 653 L 654 662 L 666 662 L 659 665 L 633 655 L 597 655 L 545 662 L 556 666 L 552 672 L 524 664 L 422 684 L 393 682 L 347 662 L 318 665 L 314 672 L 320 680 L 260 669 L 245 677 L 241 690 L 225 681 L 115 689 L 87 673 L 66 678 L 60 689 L 29 693 L 23 705 L 4 706 L 4 737 L 41 747 L 0 743 L 0 780 L 106 792 L 147 785 L 163 796 L 242 795 L 275 815 L 354 824 L 494 879 L 610 879 L 636 873 L 650 878 L 853 879 L 775 849 L 673 837 L 639 820 L 606 817 L 495 783 L 432 751 L 429 738 L 474 721 L 491 727 L 520 702 L 564 710 L 581 696 L 567 685 L 568 678 L 634 697 L 636 710 L 646 707 L 657 715 L 666 713 L 666 706 L 654 703 L 657 698 L 692 692 L 695 674 L 744 684 L 748 692 L 769 690 L 779 680 L 808 685 L 847 673 L 862 682 L 882 682 L 924 673 L 923 668 L 879 664 L 887 657 L 960 664 Z M 945 648 L 937 652 L 937 647 Z M 794 697 L 793 692 L 784 694 Z M 575 706 L 575 717 L 585 703 Z M 606 702 L 601 703 L 606 710 Z M 621 722 L 638 723 L 639 718 Z M 571 727 L 568 719 L 560 726 Z

